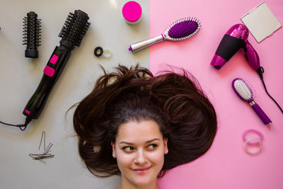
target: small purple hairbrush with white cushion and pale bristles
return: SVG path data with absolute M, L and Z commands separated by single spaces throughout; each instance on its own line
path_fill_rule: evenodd
M 270 118 L 267 117 L 267 115 L 263 112 L 263 110 L 260 108 L 260 106 L 253 101 L 254 91 L 253 88 L 248 84 L 248 81 L 236 78 L 232 81 L 232 87 L 233 90 L 236 92 L 239 98 L 241 98 L 243 101 L 246 101 L 250 103 L 253 110 L 255 110 L 255 113 L 258 114 L 258 117 L 262 120 L 262 122 L 265 123 L 265 125 L 270 125 L 272 122 Z

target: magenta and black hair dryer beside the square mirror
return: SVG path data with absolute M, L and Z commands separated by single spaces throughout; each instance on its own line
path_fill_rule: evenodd
M 252 67 L 258 74 L 262 74 L 262 68 L 260 67 L 260 58 L 258 53 L 248 42 L 248 28 L 246 25 L 238 23 L 233 25 L 222 38 L 215 55 L 212 59 L 212 66 L 216 69 L 221 69 L 226 62 L 233 57 L 233 55 L 243 48 L 245 57 L 248 60 L 248 64 Z

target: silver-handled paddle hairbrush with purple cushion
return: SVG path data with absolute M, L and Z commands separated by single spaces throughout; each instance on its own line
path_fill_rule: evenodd
M 197 18 L 182 18 L 171 24 L 164 34 L 130 45 L 129 51 L 136 52 L 163 40 L 185 40 L 192 37 L 192 35 L 195 35 L 199 30 L 200 21 L 197 20 Z

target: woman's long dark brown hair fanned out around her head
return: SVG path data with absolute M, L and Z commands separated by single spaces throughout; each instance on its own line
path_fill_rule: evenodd
M 96 81 L 93 91 L 77 104 L 74 130 L 79 154 L 96 176 L 120 175 L 111 142 L 122 123 L 154 120 L 169 153 L 164 171 L 202 156 L 216 134 L 216 113 L 197 80 L 187 71 L 153 76 L 149 69 L 119 66 Z

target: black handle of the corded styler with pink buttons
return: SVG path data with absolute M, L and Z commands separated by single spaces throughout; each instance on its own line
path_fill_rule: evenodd
M 45 103 L 47 101 L 52 88 L 56 84 L 57 79 L 62 73 L 68 59 L 71 55 L 71 50 L 64 48 L 64 46 L 56 47 L 48 61 L 40 84 L 37 86 L 35 93 L 25 105 L 23 115 L 31 119 L 37 119 L 40 116 Z

